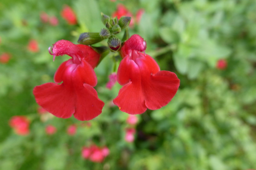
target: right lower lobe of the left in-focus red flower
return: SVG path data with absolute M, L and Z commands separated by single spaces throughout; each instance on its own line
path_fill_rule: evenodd
M 84 88 L 75 88 L 76 112 L 74 117 L 80 121 L 92 120 L 100 115 L 104 102 L 98 98 L 96 90 L 87 84 Z

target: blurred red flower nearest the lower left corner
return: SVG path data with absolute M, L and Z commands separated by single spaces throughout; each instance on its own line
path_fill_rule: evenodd
M 9 124 L 18 135 L 29 134 L 29 120 L 26 116 L 12 116 Z

